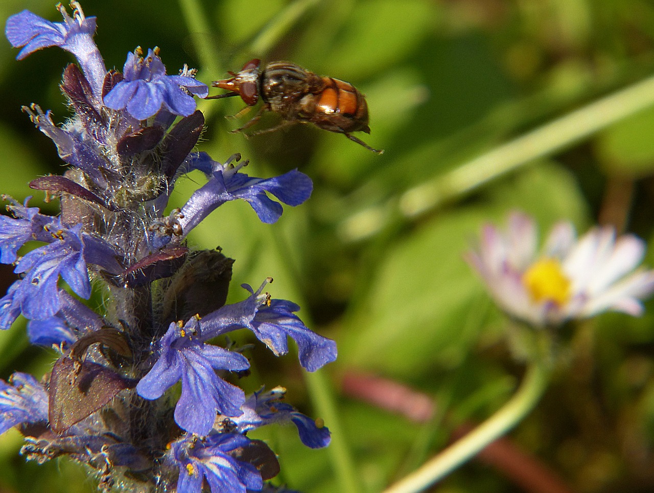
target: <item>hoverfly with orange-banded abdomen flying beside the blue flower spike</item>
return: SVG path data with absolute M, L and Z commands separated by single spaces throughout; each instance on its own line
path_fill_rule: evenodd
M 284 121 L 274 128 L 260 130 L 252 135 L 269 132 L 296 121 L 309 122 L 323 130 L 344 134 L 374 153 L 383 153 L 351 134 L 370 134 L 366 98 L 352 84 L 333 77 L 321 77 L 289 62 L 271 62 L 262 70 L 260 64 L 260 60 L 255 58 L 243 65 L 241 71 L 230 72 L 230 79 L 212 82 L 214 87 L 229 92 L 209 96 L 209 100 L 241 96 L 248 106 L 254 106 L 259 99 L 264 101 L 254 118 L 233 132 L 240 132 L 255 124 L 264 111 L 273 111 Z

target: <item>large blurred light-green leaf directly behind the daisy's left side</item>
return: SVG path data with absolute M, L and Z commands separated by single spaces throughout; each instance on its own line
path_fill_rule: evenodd
M 574 179 L 552 164 L 510 177 L 486 195 L 485 204 L 447 211 L 393 244 L 345 323 L 342 365 L 404 377 L 434 364 L 455 367 L 492 322 L 481 303 L 483 285 L 464 261 L 481 225 L 501 227 L 514 209 L 534 215 L 542 228 L 560 219 L 578 225 L 585 216 Z

